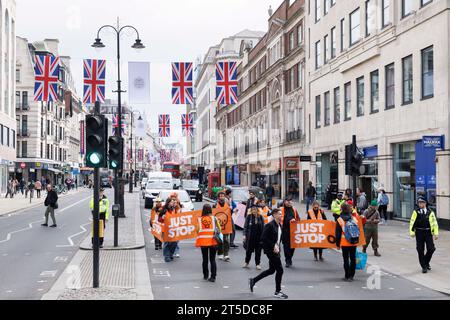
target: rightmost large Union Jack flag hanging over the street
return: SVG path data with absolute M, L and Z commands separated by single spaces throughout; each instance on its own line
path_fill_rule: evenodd
M 236 62 L 216 63 L 216 100 L 220 105 L 237 104 Z

